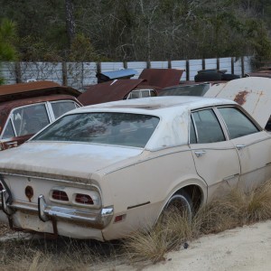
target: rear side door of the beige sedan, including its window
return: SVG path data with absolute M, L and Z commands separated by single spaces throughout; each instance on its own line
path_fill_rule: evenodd
M 208 185 L 209 196 L 238 183 L 238 153 L 225 132 L 213 108 L 192 112 L 190 147 L 197 173 Z

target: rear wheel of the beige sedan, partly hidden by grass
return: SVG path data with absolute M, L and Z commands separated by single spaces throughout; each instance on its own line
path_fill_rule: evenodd
M 186 192 L 174 194 L 164 207 L 164 213 L 180 213 L 181 216 L 192 220 L 193 206 L 192 199 Z

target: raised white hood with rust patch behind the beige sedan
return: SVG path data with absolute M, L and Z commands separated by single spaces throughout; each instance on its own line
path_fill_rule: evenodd
M 271 79 L 248 77 L 212 86 L 204 95 L 229 98 L 244 107 L 257 123 L 265 127 L 271 115 Z

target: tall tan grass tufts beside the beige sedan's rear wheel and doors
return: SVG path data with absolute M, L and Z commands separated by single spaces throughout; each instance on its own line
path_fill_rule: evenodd
M 130 259 L 155 263 L 194 238 L 268 219 L 271 219 L 271 181 L 248 192 L 237 188 L 213 199 L 191 221 L 176 212 L 169 214 L 165 222 L 159 220 L 153 229 L 136 232 L 126 240 L 125 247 Z

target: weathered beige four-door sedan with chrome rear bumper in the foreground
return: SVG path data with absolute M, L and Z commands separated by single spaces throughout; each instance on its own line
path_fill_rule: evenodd
M 79 107 L 0 160 L 12 229 L 126 238 L 170 206 L 192 215 L 222 189 L 271 176 L 271 136 L 236 102 L 155 97 Z

